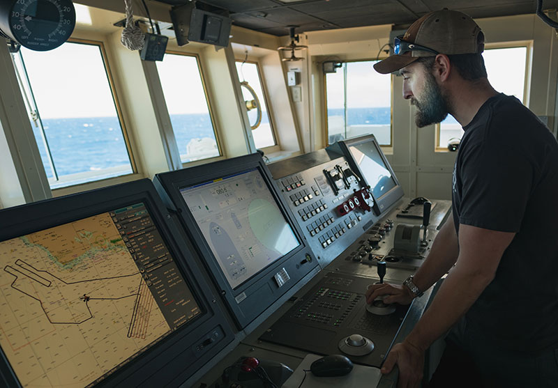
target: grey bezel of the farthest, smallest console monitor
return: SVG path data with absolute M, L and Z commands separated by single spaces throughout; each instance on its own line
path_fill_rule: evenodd
M 366 185 L 370 185 L 370 183 L 368 183 L 368 180 L 366 180 L 365 174 L 362 172 L 361 167 L 354 159 L 350 147 L 359 146 L 361 144 L 369 143 L 369 142 L 372 142 L 372 144 L 376 147 L 376 150 L 378 151 L 380 157 L 382 157 L 382 162 L 384 162 L 384 166 L 386 166 L 386 168 L 389 170 L 389 173 L 391 173 L 391 178 L 393 178 L 393 181 L 395 182 L 395 186 L 392 187 L 388 192 L 384 193 L 384 195 L 380 196 L 379 198 L 376 198 L 374 195 L 372 195 L 372 198 L 378 205 L 380 214 L 382 214 L 386 210 L 388 210 L 391 207 L 391 205 L 393 205 L 393 203 L 397 202 L 403 196 L 404 193 L 403 193 L 403 188 L 401 187 L 397 176 L 395 176 L 395 173 L 393 172 L 393 169 L 391 168 L 391 164 L 389 164 L 386 155 L 384 155 L 384 152 L 382 151 L 382 147 L 379 146 L 376 137 L 373 134 L 368 134 L 362 137 L 354 137 L 352 139 L 345 139 L 345 140 L 338 141 L 340 148 L 342 149 L 343 153 L 345 153 L 347 160 L 349 160 L 349 164 L 351 164 L 354 171 L 357 171 L 359 173 L 359 178 L 364 180 Z

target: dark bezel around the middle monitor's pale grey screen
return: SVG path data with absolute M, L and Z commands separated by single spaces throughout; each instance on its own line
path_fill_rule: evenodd
M 257 272 L 257 274 L 252 276 L 247 281 L 243 282 L 243 284 L 233 289 L 225 277 L 225 274 L 223 274 L 223 271 L 218 263 L 218 259 L 215 255 L 213 255 L 213 251 L 206 242 L 202 231 L 195 221 L 195 218 L 188 209 L 186 201 L 184 201 L 180 190 L 185 187 L 192 187 L 211 180 L 220 179 L 225 176 L 231 176 L 253 169 L 257 169 L 262 175 L 262 178 L 269 188 L 273 199 L 275 199 L 276 205 L 278 205 L 281 214 L 285 217 L 289 226 L 291 226 L 297 240 L 299 240 L 299 246 L 292 249 L 292 251 L 289 251 L 288 254 L 278 258 L 276 261 L 271 263 L 271 265 L 264 267 L 264 269 Z M 232 159 L 213 162 L 211 164 L 193 166 L 188 169 L 160 173 L 156 175 L 155 183 L 156 186 L 160 185 L 161 189 L 165 192 L 164 194 L 168 196 L 168 200 L 170 201 L 169 205 L 176 206 L 176 211 L 179 214 L 179 219 L 183 222 L 186 233 L 188 233 L 191 240 L 196 242 L 199 256 L 201 258 L 206 258 L 206 260 L 204 260 L 204 264 L 206 265 L 208 272 L 211 274 L 211 277 L 213 277 L 213 281 L 216 282 L 216 286 L 221 290 L 220 292 L 223 295 L 225 302 L 227 302 L 227 306 L 231 310 L 232 316 L 236 320 L 236 325 L 238 325 L 239 329 L 246 327 L 246 325 L 248 325 L 248 323 L 252 320 L 246 316 L 246 307 L 243 308 L 240 306 L 243 301 L 243 297 L 251 295 L 257 290 L 257 288 L 266 284 L 269 278 L 279 272 L 279 270 L 285 266 L 285 263 L 289 262 L 292 258 L 301 254 L 312 255 L 312 252 L 308 248 L 308 243 L 299 228 L 299 224 L 294 219 L 294 216 L 292 215 L 292 212 L 290 212 L 288 206 L 283 203 L 280 190 L 259 154 L 234 157 Z M 313 257 L 312 262 L 312 265 L 317 265 Z M 254 311 L 250 311 L 250 313 L 255 314 Z

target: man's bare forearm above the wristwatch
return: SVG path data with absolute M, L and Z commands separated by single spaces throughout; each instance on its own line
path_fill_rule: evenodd
M 414 284 L 420 290 L 427 290 L 435 284 L 455 264 L 459 254 L 459 242 L 451 216 L 440 229 L 428 257 L 416 271 Z

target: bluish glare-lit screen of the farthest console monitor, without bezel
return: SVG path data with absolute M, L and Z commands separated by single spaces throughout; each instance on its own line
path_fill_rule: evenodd
M 380 199 L 396 186 L 395 179 L 384 163 L 382 154 L 374 141 L 349 146 L 349 150 L 356 164 L 359 164 L 375 199 Z

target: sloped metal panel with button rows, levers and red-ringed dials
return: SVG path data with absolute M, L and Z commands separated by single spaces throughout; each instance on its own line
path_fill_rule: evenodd
M 345 157 L 326 150 L 269 166 L 323 268 L 374 224 L 375 202 Z

